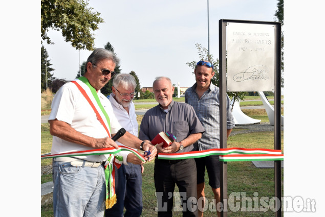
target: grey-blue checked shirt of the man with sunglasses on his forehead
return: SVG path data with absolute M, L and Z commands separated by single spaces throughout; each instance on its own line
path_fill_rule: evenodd
M 210 83 L 210 87 L 199 99 L 197 83 L 185 91 L 185 103 L 193 106 L 201 124 L 205 128 L 202 137 L 194 143 L 193 150 L 220 148 L 220 101 L 219 87 Z M 235 122 L 231 113 L 230 98 L 227 95 L 227 129 L 232 129 Z

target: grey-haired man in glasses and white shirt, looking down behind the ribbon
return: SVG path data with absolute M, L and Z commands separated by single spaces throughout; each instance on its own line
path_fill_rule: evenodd
M 110 102 L 114 114 L 121 126 L 129 133 L 138 136 L 137 115 L 132 102 L 137 86 L 130 74 L 118 74 L 114 77 Z M 116 142 L 118 145 L 122 145 Z M 143 163 L 131 152 L 118 153 L 123 157 L 123 164 L 115 170 L 116 204 L 106 209 L 105 216 L 140 216 L 142 212 L 142 176 Z

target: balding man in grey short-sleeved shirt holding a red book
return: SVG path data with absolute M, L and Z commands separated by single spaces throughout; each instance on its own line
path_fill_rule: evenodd
M 182 153 L 193 149 L 193 143 L 201 138 L 204 128 L 192 106 L 174 102 L 174 87 L 169 78 L 158 77 L 153 83 L 155 99 L 159 105 L 149 109 L 143 116 L 139 138 L 151 141 L 163 132 L 171 132 L 176 141 L 169 147 L 157 145 L 158 153 Z M 197 176 L 193 158 L 183 160 L 155 160 L 155 187 L 158 216 L 172 216 L 175 184 L 182 198 L 183 216 L 197 216 Z

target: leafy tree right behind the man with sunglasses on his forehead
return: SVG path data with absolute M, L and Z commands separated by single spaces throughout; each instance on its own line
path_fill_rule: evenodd
M 214 76 L 211 79 L 212 84 L 219 87 L 219 59 L 215 58 L 215 61 L 213 60 L 213 55 L 208 53 L 208 50 L 205 47 L 202 47 L 201 44 L 196 44 L 196 47 L 198 49 L 199 53 L 199 59 L 200 60 L 208 60 L 213 64 L 214 69 Z M 193 71 L 192 74 L 194 74 L 194 68 L 196 67 L 198 61 L 192 61 L 186 63 L 189 67 L 192 67 Z M 246 92 L 227 92 L 229 97 L 233 99 L 234 101 L 244 100 Z M 231 110 L 233 109 L 233 105 L 231 106 Z

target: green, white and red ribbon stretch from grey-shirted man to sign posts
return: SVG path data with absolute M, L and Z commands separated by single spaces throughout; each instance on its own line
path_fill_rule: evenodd
M 220 161 L 262 161 L 262 160 L 283 160 L 281 150 L 273 149 L 209 149 L 203 151 L 192 151 L 183 153 L 159 153 L 158 159 L 181 160 L 188 158 L 200 158 L 210 155 L 220 155 Z

